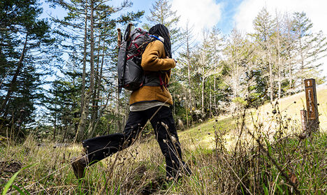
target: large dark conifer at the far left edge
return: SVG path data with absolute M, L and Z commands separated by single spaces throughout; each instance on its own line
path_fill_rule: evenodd
M 13 122 L 24 121 L 22 117 L 31 119 L 43 84 L 40 77 L 44 73 L 40 72 L 47 72 L 47 65 L 57 54 L 50 24 L 38 19 L 43 11 L 39 7 L 36 0 L 0 3 L 0 115 Z M 17 103 L 18 99 L 24 101 Z M 20 110 L 24 115 L 17 116 Z

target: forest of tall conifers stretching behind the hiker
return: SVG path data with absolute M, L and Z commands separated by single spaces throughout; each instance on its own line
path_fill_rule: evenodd
M 0 1 L 2 136 L 32 133 L 64 142 L 122 131 L 130 92 L 117 90 L 117 28 L 129 22 L 144 29 L 161 23 L 170 30 L 178 61 L 169 87 L 172 110 L 187 127 L 237 113 L 245 102 L 257 107 L 300 92 L 305 78 L 318 84 L 326 79 L 319 74 L 326 37 L 312 32 L 305 13 L 262 8 L 253 34 L 233 29 L 224 35 L 215 27 L 197 38 L 191 26 L 179 26 L 167 0 L 155 1 L 150 15 L 124 13 L 131 1 L 119 7 L 104 0 L 47 3 L 64 8 L 66 17 L 40 18 L 37 0 Z

